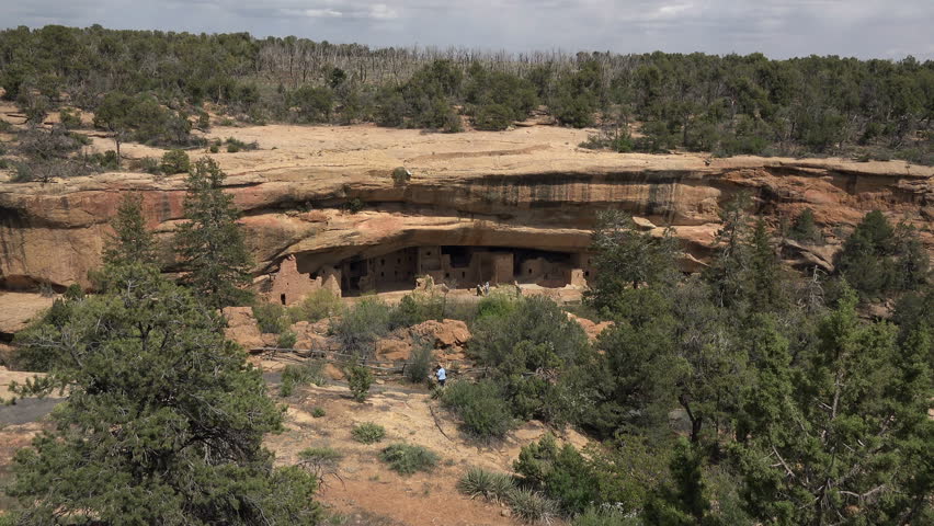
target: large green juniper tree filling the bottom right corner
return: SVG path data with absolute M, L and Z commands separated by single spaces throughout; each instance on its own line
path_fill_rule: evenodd
M 864 324 L 844 285 L 819 342 L 791 364 L 767 323 L 749 339 L 756 365 L 731 446 L 750 513 L 768 524 L 922 524 L 934 489 L 930 335 L 897 344 Z

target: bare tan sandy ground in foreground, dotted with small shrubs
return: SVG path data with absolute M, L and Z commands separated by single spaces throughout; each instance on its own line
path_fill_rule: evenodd
M 338 477 L 329 477 L 320 500 L 350 517 L 367 521 L 379 518 L 407 526 L 513 525 L 504 507 L 471 501 L 456 490 L 456 482 L 471 466 L 510 471 L 520 448 L 540 437 L 546 428 L 529 423 L 516 430 L 500 444 L 477 444 L 463 436 L 456 422 L 426 392 L 405 386 L 374 386 L 374 395 L 365 403 L 350 399 L 346 388 L 339 386 L 307 387 L 288 400 L 287 431 L 272 436 L 267 445 L 277 461 L 293 464 L 306 447 L 330 446 L 340 450 Z M 311 416 L 315 407 L 326 415 Z M 361 422 L 375 422 L 386 428 L 386 438 L 363 445 L 351 437 L 351 428 Z M 583 445 L 585 438 L 573 432 L 566 439 Z M 381 447 L 396 442 L 425 446 L 436 451 L 441 465 L 431 473 L 402 477 L 390 471 L 378 459 Z

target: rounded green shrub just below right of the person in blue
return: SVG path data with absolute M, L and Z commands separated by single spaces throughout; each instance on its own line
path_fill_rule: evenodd
M 460 416 L 464 431 L 475 437 L 502 438 L 512 428 L 513 416 L 503 391 L 490 380 L 449 384 L 441 402 Z

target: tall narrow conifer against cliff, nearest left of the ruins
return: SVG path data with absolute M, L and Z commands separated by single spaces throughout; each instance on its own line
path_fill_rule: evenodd
M 227 175 L 213 159 L 200 159 L 187 179 L 185 219 L 175 231 L 175 250 L 189 285 L 205 305 L 219 309 L 249 300 L 250 254 L 237 225 L 234 197 L 224 192 Z

